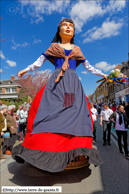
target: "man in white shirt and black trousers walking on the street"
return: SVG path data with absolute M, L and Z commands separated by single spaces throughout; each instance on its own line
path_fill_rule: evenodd
M 108 141 L 108 145 L 111 145 L 110 139 L 111 139 L 111 122 L 109 121 L 110 115 L 113 113 L 113 111 L 108 107 L 107 103 L 103 104 L 104 110 L 101 110 L 100 113 L 100 125 L 103 125 L 103 146 L 106 145 L 106 140 Z M 106 139 L 106 133 L 108 132 L 107 139 Z

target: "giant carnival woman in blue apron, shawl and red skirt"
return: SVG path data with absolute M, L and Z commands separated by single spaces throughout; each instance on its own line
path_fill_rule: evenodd
M 107 76 L 89 64 L 74 45 L 74 35 L 74 22 L 63 19 L 51 46 L 19 72 L 22 76 L 34 71 L 46 60 L 55 66 L 49 81 L 33 100 L 23 143 L 12 150 L 12 157 L 19 163 L 27 161 L 39 169 L 59 172 L 74 158 L 84 155 L 89 163 L 102 164 L 99 152 L 92 148 L 93 121 L 76 68 L 82 63 L 91 73 L 105 79 Z

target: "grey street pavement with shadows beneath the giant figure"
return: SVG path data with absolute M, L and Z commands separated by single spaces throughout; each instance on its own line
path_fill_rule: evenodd
M 62 186 L 62 193 L 129 194 L 129 160 L 119 153 L 113 141 L 111 146 L 103 146 L 102 132 L 98 123 L 93 147 L 103 159 L 101 166 L 50 173 L 28 163 L 18 164 L 7 156 L 0 163 L 1 186 Z

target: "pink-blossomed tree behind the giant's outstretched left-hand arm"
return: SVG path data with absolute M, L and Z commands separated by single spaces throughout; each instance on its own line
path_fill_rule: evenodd
M 30 96 L 32 99 L 36 96 L 38 91 L 48 82 L 51 76 L 51 70 L 35 71 L 32 74 L 26 73 L 22 77 L 17 76 L 17 82 L 21 85 L 19 99 Z

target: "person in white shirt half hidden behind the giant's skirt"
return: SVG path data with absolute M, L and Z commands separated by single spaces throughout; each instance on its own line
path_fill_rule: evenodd
M 97 128 L 97 117 L 98 117 L 98 113 L 97 110 L 94 108 L 93 103 L 90 102 L 90 109 L 91 109 L 91 114 L 92 114 L 92 119 L 93 119 L 93 127 L 94 127 L 94 131 L 93 131 L 93 140 L 96 142 L 96 128 Z

